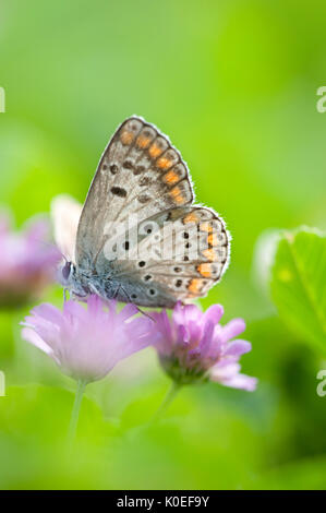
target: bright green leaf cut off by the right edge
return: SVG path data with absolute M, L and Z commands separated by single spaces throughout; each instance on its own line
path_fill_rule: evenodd
M 301 227 L 283 232 L 271 269 L 271 296 L 290 329 L 326 354 L 326 237 Z

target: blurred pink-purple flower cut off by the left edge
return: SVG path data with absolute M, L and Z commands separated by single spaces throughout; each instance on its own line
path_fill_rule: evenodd
M 60 253 L 49 242 L 50 227 L 35 219 L 19 234 L 0 217 L 0 307 L 12 308 L 37 298 L 56 279 Z

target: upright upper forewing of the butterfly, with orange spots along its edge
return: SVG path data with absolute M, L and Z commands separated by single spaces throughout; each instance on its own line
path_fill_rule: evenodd
M 82 212 L 76 263 L 109 271 L 104 247 L 118 224 L 135 224 L 193 201 L 189 171 L 169 139 L 142 118 L 126 119 L 105 150 Z

